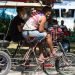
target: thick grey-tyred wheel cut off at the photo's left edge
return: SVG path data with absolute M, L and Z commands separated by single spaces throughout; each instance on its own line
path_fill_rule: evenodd
M 0 75 L 7 75 L 11 69 L 11 59 L 9 55 L 0 51 Z

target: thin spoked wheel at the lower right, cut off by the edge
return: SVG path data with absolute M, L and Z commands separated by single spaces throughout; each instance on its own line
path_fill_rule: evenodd
M 55 68 L 61 75 L 75 75 L 75 54 L 66 53 L 65 56 L 57 58 Z

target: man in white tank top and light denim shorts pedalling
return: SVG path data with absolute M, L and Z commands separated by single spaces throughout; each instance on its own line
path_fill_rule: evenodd
M 46 38 L 46 42 L 51 50 L 50 53 L 55 56 L 56 51 L 53 49 L 52 37 L 50 36 L 50 34 L 47 34 L 44 29 L 46 20 L 48 16 L 51 15 L 51 11 L 51 7 L 45 6 L 42 9 L 42 13 L 31 16 L 25 23 L 22 34 L 24 38 L 26 38 L 27 36 L 36 37 L 38 39 Z M 40 53 L 39 60 L 44 60 L 42 52 Z

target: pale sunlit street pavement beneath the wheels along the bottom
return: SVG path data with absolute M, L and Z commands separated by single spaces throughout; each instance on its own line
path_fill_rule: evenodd
M 51 68 L 49 70 L 49 75 L 75 75 L 75 67 L 68 67 L 68 70 L 65 69 L 61 74 L 59 74 L 57 71 L 55 71 L 54 68 Z M 13 71 L 10 70 L 10 72 L 7 75 L 47 75 L 42 70 L 37 71 L 25 71 L 24 73 L 21 73 L 20 71 Z

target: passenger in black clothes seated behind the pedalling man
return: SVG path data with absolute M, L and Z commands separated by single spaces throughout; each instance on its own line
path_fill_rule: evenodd
M 12 19 L 10 24 L 9 36 L 13 41 L 20 41 L 22 39 L 22 27 L 25 23 L 25 8 L 17 7 L 17 16 Z

